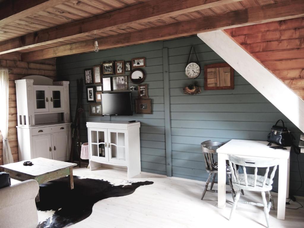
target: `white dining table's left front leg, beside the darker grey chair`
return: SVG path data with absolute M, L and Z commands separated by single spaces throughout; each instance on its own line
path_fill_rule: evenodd
M 217 204 L 219 208 L 226 207 L 226 154 L 218 154 L 218 193 Z

